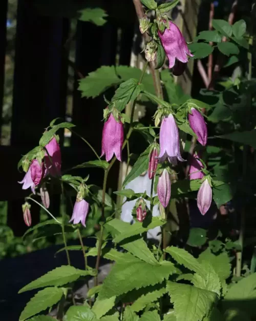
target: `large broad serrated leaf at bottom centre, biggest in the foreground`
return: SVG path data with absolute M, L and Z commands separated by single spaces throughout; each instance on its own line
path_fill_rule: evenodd
M 176 272 L 171 262 L 151 265 L 126 253 L 116 261 L 110 274 L 103 281 L 100 298 L 119 296 L 134 289 L 155 285 Z M 136 276 L 136 277 L 134 277 Z

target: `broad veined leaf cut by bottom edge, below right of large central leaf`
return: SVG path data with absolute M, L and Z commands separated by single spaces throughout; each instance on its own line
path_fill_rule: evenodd
M 170 301 L 174 304 L 177 321 L 201 321 L 217 301 L 217 294 L 186 284 L 167 282 Z

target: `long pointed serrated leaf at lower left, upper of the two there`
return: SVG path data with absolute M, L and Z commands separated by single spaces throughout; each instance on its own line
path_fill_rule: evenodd
M 92 271 L 83 271 L 71 266 L 61 266 L 30 282 L 28 285 L 20 289 L 18 293 L 49 286 L 63 286 L 77 280 L 81 275 L 93 274 L 94 273 L 92 273 Z

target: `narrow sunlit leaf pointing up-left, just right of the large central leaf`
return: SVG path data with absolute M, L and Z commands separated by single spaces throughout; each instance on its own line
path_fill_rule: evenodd
M 165 249 L 165 252 L 172 255 L 175 261 L 178 262 L 180 265 L 183 265 L 185 268 L 191 271 L 200 273 L 202 269 L 200 263 L 193 255 L 189 254 L 184 249 L 179 249 L 176 247 L 168 247 Z

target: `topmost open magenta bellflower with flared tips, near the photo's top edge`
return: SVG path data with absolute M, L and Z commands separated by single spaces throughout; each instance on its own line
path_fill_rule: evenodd
M 171 21 L 169 25 L 169 29 L 166 28 L 163 33 L 158 31 L 158 35 L 168 57 L 169 68 L 173 68 L 176 59 L 182 63 L 187 63 L 187 55 L 193 57 L 193 54 L 189 51 L 180 29 Z

